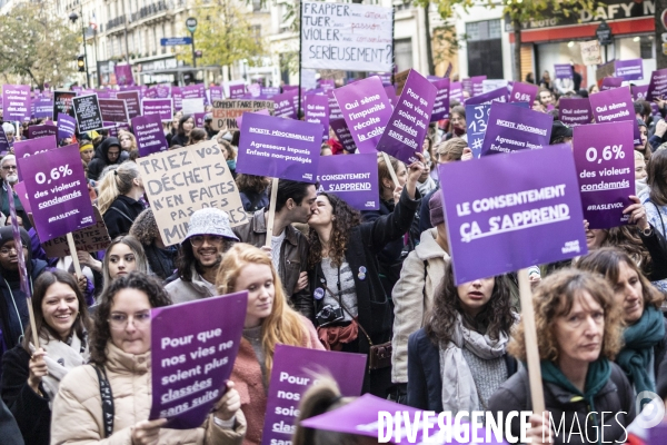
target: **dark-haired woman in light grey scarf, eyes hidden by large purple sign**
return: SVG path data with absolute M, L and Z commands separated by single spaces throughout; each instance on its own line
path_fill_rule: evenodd
M 517 314 L 505 276 L 455 286 L 449 261 L 424 328 L 408 340 L 408 405 L 450 412 L 487 411 L 517 370 L 507 355 Z

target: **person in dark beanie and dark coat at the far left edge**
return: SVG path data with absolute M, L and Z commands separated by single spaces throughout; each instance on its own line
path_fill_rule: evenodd
M 2 330 L 0 356 L 19 344 L 30 323 L 26 294 L 21 290 L 19 253 L 26 260 L 31 288 L 32 281 L 47 268 L 46 261 L 32 259 L 30 236 L 24 229 L 20 229 L 20 233 L 22 246 L 19 246 L 17 251 L 12 227 L 0 227 L 0 330 Z

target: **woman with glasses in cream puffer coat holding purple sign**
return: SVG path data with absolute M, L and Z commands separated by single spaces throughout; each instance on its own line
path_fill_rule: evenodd
M 150 309 L 170 304 L 157 279 L 138 273 L 115 280 L 104 291 L 90 342 L 92 366 L 72 369 L 60 383 L 51 444 L 241 443 L 246 422 L 232 384 L 199 428 L 166 429 L 166 419 L 148 421 Z M 110 387 L 111 397 L 104 407 L 113 407 L 111 416 L 103 415 L 107 408 L 102 409 L 100 378 Z

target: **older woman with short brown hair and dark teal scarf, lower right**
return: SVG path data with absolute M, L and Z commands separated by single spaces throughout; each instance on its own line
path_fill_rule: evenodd
M 544 402 L 526 434 L 531 444 L 603 444 L 626 441 L 635 418 L 635 392 L 613 362 L 621 347 L 623 320 L 614 291 L 598 274 L 561 269 L 532 296 Z M 508 352 L 526 362 L 525 326 L 519 323 Z M 528 369 L 505 382 L 489 402 L 496 422 L 511 412 L 532 411 Z M 550 428 L 555 426 L 556 429 Z M 521 422 L 509 434 L 520 436 Z

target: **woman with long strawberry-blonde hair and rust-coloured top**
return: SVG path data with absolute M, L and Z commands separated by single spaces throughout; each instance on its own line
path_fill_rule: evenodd
M 280 277 L 263 250 L 247 244 L 232 246 L 222 257 L 216 287 L 221 295 L 248 290 L 243 335 L 231 380 L 248 422 L 243 444 L 259 444 L 276 345 L 325 348 L 310 320 L 287 304 Z

